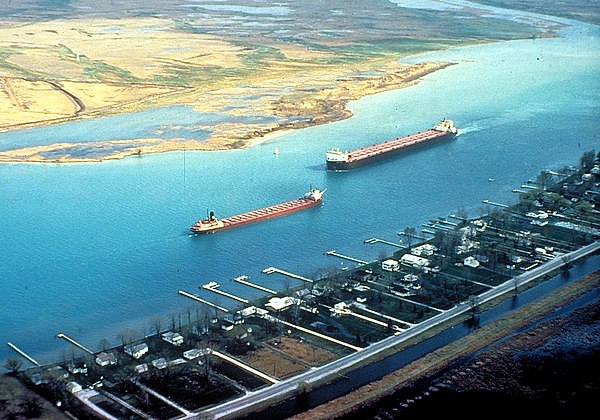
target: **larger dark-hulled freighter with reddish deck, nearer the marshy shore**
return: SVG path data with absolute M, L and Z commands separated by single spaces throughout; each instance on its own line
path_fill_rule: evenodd
M 444 118 L 430 130 L 399 137 L 394 140 L 363 147 L 350 152 L 343 152 L 340 149 L 330 150 L 326 154 L 327 169 L 333 171 L 353 169 L 358 166 L 394 156 L 405 151 L 407 148 L 452 138 L 457 133 L 458 130 L 454 126 L 454 122 Z

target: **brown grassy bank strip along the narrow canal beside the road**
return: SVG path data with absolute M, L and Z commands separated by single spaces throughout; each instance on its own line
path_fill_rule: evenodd
M 435 375 L 452 363 L 468 357 L 484 347 L 501 340 L 503 337 L 510 335 L 512 332 L 535 322 L 535 320 L 567 305 L 569 302 L 597 288 L 599 285 L 600 274 L 596 272 L 476 330 L 473 334 L 463 339 L 428 354 L 408 366 L 385 376 L 379 381 L 361 387 L 344 397 L 330 401 L 313 410 L 294 416 L 293 419 L 331 419 L 351 416 L 357 411 L 376 404 L 381 399 L 389 397 L 403 388 Z M 559 326 L 556 327 L 554 332 L 557 332 L 559 329 Z M 489 371 L 491 372 L 492 370 L 490 368 Z

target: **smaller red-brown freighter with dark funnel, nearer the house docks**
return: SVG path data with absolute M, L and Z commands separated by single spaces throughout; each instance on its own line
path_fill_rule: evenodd
M 194 223 L 190 230 L 193 233 L 213 233 L 220 230 L 243 226 L 248 223 L 259 222 L 261 220 L 294 213 L 321 204 L 323 202 L 323 193 L 325 193 L 325 190 L 321 191 L 316 188 L 311 188 L 309 192 L 304 194 L 304 197 L 297 200 L 252 210 L 224 219 L 217 219 L 215 213 L 211 211 L 206 219 Z

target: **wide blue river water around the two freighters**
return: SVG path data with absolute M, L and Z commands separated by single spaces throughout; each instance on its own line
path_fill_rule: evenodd
M 373 260 L 393 249 L 365 239 L 399 240 L 405 227 L 459 206 L 477 215 L 483 199 L 514 201 L 511 190 L 540 170 L 576 164 L 599 147 L 598 28 L 574 23 L 561 35 L 412 57 L 458 64 L 351 103 L 348 120 L 246 150 L 0 165 L 0 341 L 40 361 L 68 349 L 54 338 L 59 332 L 97 349 L 124 328 L 141 336 L 154 315 L 168 319 L 193 306 L 178 290 L 233 307 L 198 286 L 215 280 L 251 299 L 260 292 L 233 277 L 282 288 L 282 277 L 261 270 L 314 276 L 351 264 L 324 255 L 332 249 Z M 148 115 L 156 113 L 136 115 L 136 126 L 153 126 Z M 442 117 L 461 127 L 455 140 L 348 173 L 325 171 L 329 148 L 384 141 Z M 77 127 L 52 129 L 70 137 Z M 98 138 L 113 128 L 99 125 Z M 0 135 L 0 144 L 15 133 Z M 311 185 L 327 189 L 320 208 L 188 235 L 207 209 L 232 215 L 294 199 Z M 2 344 L 0 360 L 9 355 Z

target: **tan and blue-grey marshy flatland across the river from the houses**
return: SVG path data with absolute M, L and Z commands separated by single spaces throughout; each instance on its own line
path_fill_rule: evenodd
M 65 18 L 25 22 L 17 14 L 6 20 L 0 28 L 0 132 L 58 124 L 68 132 L 72 122 L 129 114 L 144 126 L 136 112 L 181 105 L 218 116 L 218 122 L 175 116 L 136 137 L 97 139 L 96 132 L 78 131 L 77 138 L 65 139 L 59 130 L 39 141 L 8 136 L 8 147 L 0 135 L 0 149 L 9 149 L 1 150 L 0 162 L 98 162 L 245 148 L 272 133 L 346 119 L 352 115 L 348 102 L 411 86 L 450 65 L 400 62 L 408 56 L 543 38 L 557 27 L 499 21 L 466 7 L 452 16 L 424 15 L 387 2 L 366 8 L 343 3 L 336 10 L 321 4 L 188 8 L 174 4 L 169 13 L 140 16 L 90 16 L 82 9 Z M 336 17 L 322 21 L 329 15 Z M 411 28 L 410 38 L 398 28 Z M 398 120 L 399 127 L 412 121 Z

